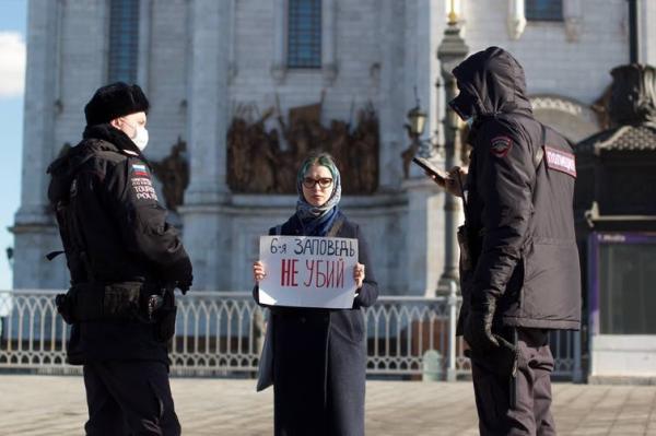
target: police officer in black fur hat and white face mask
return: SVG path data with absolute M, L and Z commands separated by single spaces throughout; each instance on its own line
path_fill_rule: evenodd
M 138 85 L 98 89 L 83 140 L 48 168 L 71 274 L 57 305 L 72 323 L 68 360 L 84 365 L 87 435 L 180 434 L 167 342 L 191 263 L 142 154 L 148 109 Z

